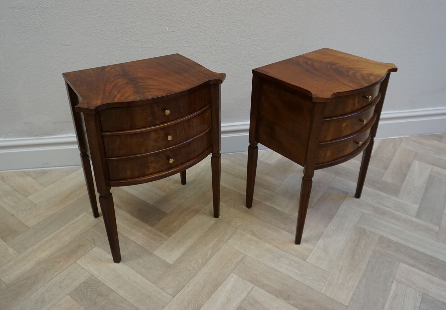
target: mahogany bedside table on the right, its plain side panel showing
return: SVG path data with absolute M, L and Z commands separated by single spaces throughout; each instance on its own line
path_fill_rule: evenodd
M 315 169 L 364 151 L 355 197 L 361 196 L 394 64 L 333 49 L 252 70 L 246 206 L 251 208 L 257 143 L 304 167 L 295 243 L 300 244 Z

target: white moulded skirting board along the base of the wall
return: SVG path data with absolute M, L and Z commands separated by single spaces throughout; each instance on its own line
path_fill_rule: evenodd
M 222 124 L 222 153 L 248 151 L 248 132 L 249 122 Z M 446 107 L 383 112 L 376 138 L 443 132 Z M 0 139 L 0 171 L 76 165 L 80 165 L 80 158 L 74 135 Z

